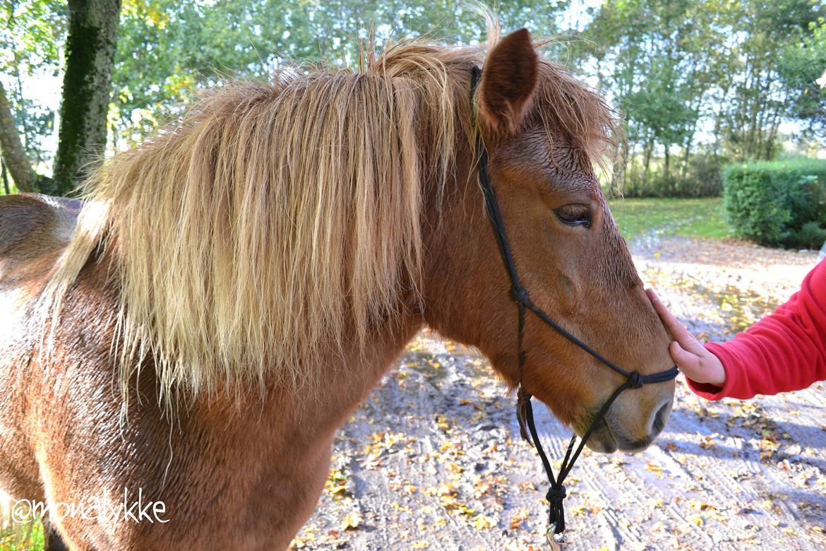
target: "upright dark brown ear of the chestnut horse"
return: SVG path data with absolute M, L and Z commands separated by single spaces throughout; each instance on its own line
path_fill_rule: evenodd
M 499 135 L 519 129 L 539 82 L 539 56 L 527 29 L 510 33 L 487 55 L 479 89 L 482 121 Z

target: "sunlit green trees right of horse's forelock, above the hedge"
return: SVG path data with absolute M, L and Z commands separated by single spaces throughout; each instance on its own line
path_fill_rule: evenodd
M 593 14 L 578 57 L 627 116 L 613 192 L 712 193 L 708 158 L 772 159 L 783 121 L 826 136 L 823 2 L 605 0 Z

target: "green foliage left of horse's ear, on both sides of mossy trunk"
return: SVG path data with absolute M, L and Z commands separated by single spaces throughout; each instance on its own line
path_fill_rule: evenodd
M 528 26 L 549 36 L 568 3 L 499 2 L 496 12 L 506 29 Z M 111 143 L 124 149 L 140 142 L 226 79 L 268 78 L 293 60 L 353 66 L 360 48 L 390 39 L 427 33 L 469 43 L 484 40 L 484 31 L 477 12 L 455 0 L 123 0 L 107 116 Z M 0 2 L 0 79 L 33 161 L 53 154 L 43 138 L 53 132 L 55 112 L 27 101 L 21 79 L 57 74 L 65 35 L 65 2 Z

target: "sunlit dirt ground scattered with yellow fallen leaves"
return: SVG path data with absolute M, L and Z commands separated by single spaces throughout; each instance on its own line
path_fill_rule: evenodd
M 736 241 L 631 244 L 695 335 L 725 340 L 786 301 L 815 252 Z M 569 549 L 826 548 L 826 387 L 702 401 L 678 379 L 640 454 L 586 450 L 568 477 Z M 487 359 L 425 330 L 339 431 L 295 549 L 544 549 L 544 473 Z M 552 458 L 570 431 L 537 406 Z

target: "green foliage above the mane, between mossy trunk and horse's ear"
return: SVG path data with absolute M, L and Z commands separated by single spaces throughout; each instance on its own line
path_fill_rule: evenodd
M 499 2 L 506 29 L 557 30 L 567 0 Z M 122 147 L 150 135 L 178 106 L 225 78 L 268 78 L 285 62 L 358 64 L 363 48 L 430 34 L 484 40 L 477 12 L 455 0 L 126 0 L 116 55 L 110 125 Z

